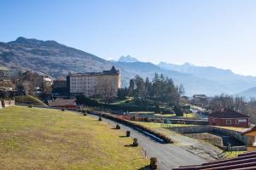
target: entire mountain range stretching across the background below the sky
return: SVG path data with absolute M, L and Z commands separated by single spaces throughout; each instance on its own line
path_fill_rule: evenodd
M 172 77 L 177 84 L 183 83 L 186 95 L 238 94 L 256 87 L 256 77 L 237 75 L 230 70 L 215 67 L 174 65 L 161 62 L 154 65 L 140 62 L 131 56 L 119 60 L 106 60 L 55 41 L 41 41 L 18 37 L 13 42 L 0 42 L 0 63 L 42 72 L 51 77 L 66 76 L 68 72 L 108 70 L 115 65 L 121 71 L 122 86 L 136 75 L 152 78 L 154 73 Z

